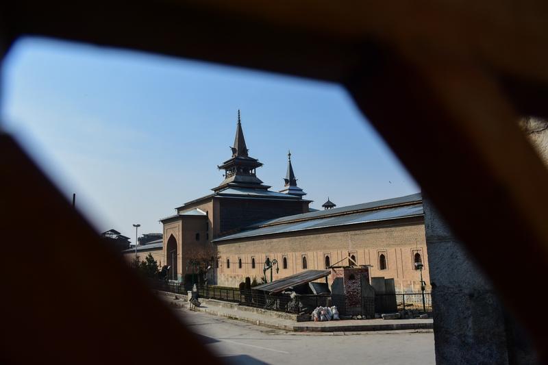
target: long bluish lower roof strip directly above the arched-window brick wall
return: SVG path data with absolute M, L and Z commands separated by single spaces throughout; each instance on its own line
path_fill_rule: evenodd
M 417 203 L 412 205 L 403 205 L 401 207 L 388 207 L 386 209 L 370 210 L 366 212 L 358 212 L 355 214 L 346 214 L 343 216 L 320 216 L 319 218 L 310 219 L 308 221 L 297 221 L 279 225 L 268 225 L 265 227 L 242 231 L 237 234 L 231 234 L 230 236 L 217 238 L 216 240 L 214 240 L 214 242 L 253 236 L 263 236 L 269 234 L 281 234 L 292 231 L 301 231 L 304 229 L 318 229 L 340 225 L 353 225 L 358 223 L 368 223 L 375 221 L 388 221 L 390 219 L 422 216 L 423 214 L 423 204 Z M 305 214 L 299 215 L 303 216 Z

